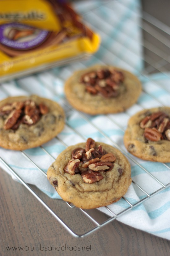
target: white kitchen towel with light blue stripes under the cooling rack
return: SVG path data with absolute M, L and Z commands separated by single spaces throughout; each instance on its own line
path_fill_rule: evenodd
M 170 106 L 170 74 L 144 75 L 141 35 L 141 7 L 137 0 L 80 1 L 74 9 L 83 15 L 87 25 L 101 36 L 99 51 L 89 60 L 65 67 L 30 75 L 1 84 L 0 99 L 7 96 L 37 94 L 61 104 L 66 112 L 66 126 L 53 140 L 34 149 L 20 151 L 0 148 L 0 166 L 9 173 L 4 161 L 28 184 L 34 184 L 52 198 L 59 195 L 49 184 L 46 176 L 49 165 L 66 146 L 74 145 L 92 137 L 118 147 L 129 158 L 132 166 L 132 183 L 125 199 L 108 206 L 119 215 L 134 205 L 130 211 L 117 218 L 132 227 L 170 239 L 170 164 L 142 161 L 127 153 L 123 135 L 131 115 L 155 106 Z M 123 113 L 89 116 L 70 108 L 64 98 L 64 81 L 74 70 L 105 63 L 117 65 L 136 74 L 142 82 L 143 91 L 138 102 Z M 46 153 L 46 151 L 49 155 Z M 3 159 L 3 160 L 2 160 Z M 30 161 L 31 160 L 31 161 Z M 14 177 L 14 176 L 13 176 Z M 141 191 L 135 184 L 140 186 Z M 159 193 L 157 193 L 161 190 Z M 142 202 L 148 195 L 154 195 Z M 156 195 L 155 195 L 156 194 Z M 128 200 L 126 202 L 125 200 Z M 139 204 L 139 202 L 142 202 Z M 136 204 L 139 204 L 136 206 Z M 104 207 L 99 210 L 113 216 Z

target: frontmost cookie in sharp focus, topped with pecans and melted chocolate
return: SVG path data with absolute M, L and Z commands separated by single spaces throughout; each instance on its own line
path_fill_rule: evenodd
M 63 200 L 92 209 L 125 195 L 131 184 L 131 168 L 119 150 L 88 138 L 58 155 L 47 177 Z

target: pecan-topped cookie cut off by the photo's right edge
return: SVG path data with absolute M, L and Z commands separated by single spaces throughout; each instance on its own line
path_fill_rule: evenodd
M 170 107 L 142 110 L 129 119 L 127 150 L 141 159 L 170 162 Z

